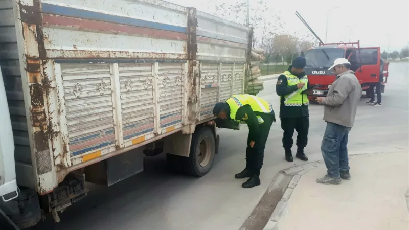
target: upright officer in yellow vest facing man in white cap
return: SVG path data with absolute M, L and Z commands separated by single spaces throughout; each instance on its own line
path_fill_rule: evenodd
M 283 147 L 285 159 L 292 162 L 291 147 L 294 129 L 297 131 L 296 157 L 307 161 L 304 153 L 307 146 L 309 113 L 308 113 L 308 77 L 303 68 L 306 65 L 304 57 L 297 57 L 292 65 L 277 79 L 276 92 L 280 96 L 281 128 L 284 130 Z

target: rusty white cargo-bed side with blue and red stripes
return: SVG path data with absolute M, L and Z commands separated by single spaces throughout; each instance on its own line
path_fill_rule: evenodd
M 17 29 L 17 59 L 40 66 L 41 75 L 21 70 L 25 90 L 37 90 L 26 95 L 26 114 L 40 193 L 70 171 L 180 130 L 191 134 L 212 119 L 216 102 L 243 92 L 245 26 L 159 0 L 30 4 L 16 4 L 25 14 L 16 22 L 25 35 Z M 35 92 L 44 109 L 29 105 Z M 39 140 L 49 148 L 38 149 Z

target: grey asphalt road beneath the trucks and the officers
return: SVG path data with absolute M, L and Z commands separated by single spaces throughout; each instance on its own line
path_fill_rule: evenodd
M 390 79 L 383 94 L 381 107 L 366 105 L 362 98 L 355 126 L 349 138 L 351 154 L 370 152 L 399 152 L 409 149 L 409 63 L 391 63 Z M 279 111 L 275 94 L 277 80 L 264 82 L 259 96 Z M 306 154 L 310 160 L 322 159 L 320 145 L 325 122 L 323 107 L 310 106 L 309 144 Z M 279 121 L 278 121 L 279 122 Z M 271 127 L 261 172 L 262 185 L 241 188 L 244 180 L 234 179 L 245 164 L 247 128 L 240 131 L 220 130 L 219 154 L 213 169 L 206 176 L 191 178 L 169 174 L 164 155 L 147 157 L 145 171 L 112 187 L 90 192 L 60 215 L 61 222 L 52 218 L 32 229 L 223 229 L 237 230 L 252 212 L 279 170 L 303 164 L 284 160 L 279 123 Z M 295 137 L 295 135 L 294 135 Z M 293 151 L 296 148 L 293 147 Z M 353 172 L 353 169 L 351 169 Z

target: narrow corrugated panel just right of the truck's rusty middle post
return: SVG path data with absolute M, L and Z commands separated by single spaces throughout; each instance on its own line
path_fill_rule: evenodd
M 206 119 L 212 117 L 212 110 L 217 103 L 217 94 L 219 88 L 218 64 L 201 65 L 201 96 L 200 96 L 200 118 Z

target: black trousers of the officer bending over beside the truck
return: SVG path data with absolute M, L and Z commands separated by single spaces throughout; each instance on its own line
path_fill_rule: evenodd
M 263 120 L 264 123 L 260 124 L 259 140 L 255 141 L 253 148 L 250 147 L 251 140 L 247 137 L 246 168 L 257 176 L 260 176 L 263 166 L 265 144 L 272 125 L 272 119 L 263 118 Z

